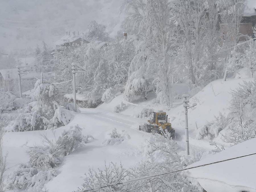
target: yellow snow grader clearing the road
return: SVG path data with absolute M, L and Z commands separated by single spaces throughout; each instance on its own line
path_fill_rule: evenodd
M 139 126 L 139 130 L 161 134 L 160 127 L 162 127 L 163 130 L 167 129 L 167 131 L 171 133 L 171 137 L 175 139 L 175 129 L 172 128 L 170 118 L 168 119 L 168 115 L 163 111 L 153 112 L 153 117 L 150 117 L 147 124 Z

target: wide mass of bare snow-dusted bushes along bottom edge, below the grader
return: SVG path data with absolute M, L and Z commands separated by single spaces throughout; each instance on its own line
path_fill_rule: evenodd
M 88 174 L 85 174 L 81 190 L 112 185 L 111 187 L 102 188 L 96 191 L 177 192 L 186 188 L 187 191 L 198 192 L 199 188 L 192 185 L 188 179 L 182 177 L 181 172 L 135 181 L 125 185 L 115 185 L 116 183 L 125 182 L 131 179 L 183 169 L 195 160 L 200 160 L 202 153 L 200 153 L 197 159 L 185 158 L 177 143 L 172 139 L 168 139 L 166 134 L 168 133 L 164 132 L 163 135 L 153 135 L 147 146 L 147 160 L 144 160 L 129 169 L 123 168 L 122 164 L 118 166 L 113 162 L 108 166 L 105 162 L 104 170 L 90 169 Z M 113 135 L 116 136 L 116 133 Z

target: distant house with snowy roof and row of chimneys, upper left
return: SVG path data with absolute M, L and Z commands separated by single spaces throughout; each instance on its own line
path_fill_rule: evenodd
M 83 34 L 79 34 L 79 32 L 73 32 L 70 35 L 70 32 L 66 32 L 61 39 L 55 42 L 56 49 L 59 49 L 61 46 L 77 46 L 81 45 L 81 42 L 89 43 L 88 41 L 84 40 Z

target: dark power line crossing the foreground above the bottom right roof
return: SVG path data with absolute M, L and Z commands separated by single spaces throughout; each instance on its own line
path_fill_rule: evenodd
M 120 183 L 116 183 L 116 184 L 112 184 L 112 185 L 106 185 L 106 186 L 103 186 L 103 187 L 98 187 L 98 188 L 94 188 L 94 189 L 86 189 L 86 190 L 77 191 L 77 192 L 93 191 L 93 190 L 103 189 L 103 188 L 106 188 L 106 187 L 112 187 L 112 186 L 115 186 L 115 185 L 123 185 L 123 184 L 127 184 L 127 183 L 132 183 L 132 182 L 135 182 L 135 181 L 151 179 L 151 178 L 158 177 L 158 176 L 168 175 L 168 174 L 177 173 L 177 172 L 190 170 L 190 169 L 194 169 L 194 168 L 199 168 L 199 167 L 203 167 L 203 166 L 207 166 L 207 165 L 212 165 L 212 164 L 217 164 L 217 163 L 221 163 L 221 162 L 225 162 L 225 161 L 230 161 L 230 160 L 234 160 L 234 159 L 238 159 L 238 158 L 242 158 L 242 157 L 252 156 L 252 155 L 255 155 L 255 154 L 256 153 L 252 153 L 252 154 L 249 154 L 249 155 L 238 156 L 238 157 L 225 159 L 225 160 L 221 160 L 221 161 L 216 161 L 216 162 L 212 162 L 212 163 L 207 163 L 207 164 L 203 164 L 203 165 L 198 165 L 198 166 L 194 166 L 194 167 L 190 167 L 190 168 L 185 168 L 185 169 L 181 169 L 181 170 L 166 172 L 166 173 L 163 173 L 163 174 L 141 177 L 141 178 L 137 178 L 137 179 L 131 179 L 131 180 L 128 180 L 128 181 L 124 181 L 124 182 L 120 182 Z

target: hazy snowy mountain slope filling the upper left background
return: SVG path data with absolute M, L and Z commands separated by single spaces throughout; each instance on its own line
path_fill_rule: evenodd
M 119 14 L 122 3 L 119 0 L 1 0 L 0 50 L 27 49 L 29 53 L 42 41 L 53 46 L 65 31 L 85 31 L 91 20 L 106 25 L 113 37 L 124 18 Z

